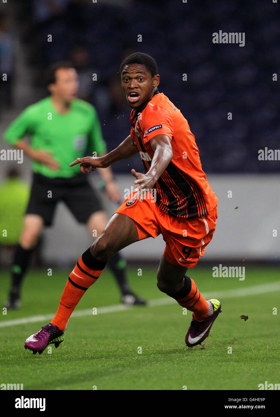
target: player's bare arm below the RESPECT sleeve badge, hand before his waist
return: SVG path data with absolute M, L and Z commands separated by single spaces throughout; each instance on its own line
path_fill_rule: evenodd
M 152 188 L 173 158 L 172 146 L 168 136 L 154 136 L 150 140 L 150 143 L 154 149 L 154 157 L 151 161 L 149 171 L 141 174 L 134 169 L 131 170 L 132 175 L 136 177 L 134 184 L 138 186 L 139 191 L 141 189 Z

